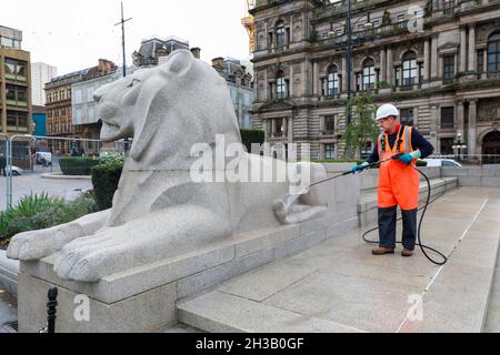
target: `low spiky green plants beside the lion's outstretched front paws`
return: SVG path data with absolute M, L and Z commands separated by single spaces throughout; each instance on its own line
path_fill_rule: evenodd
M 7 247 L 10 237 L 18 233 L 64 224 L 96 212 L 94 205 L 92 193 L 70 202 L 47 193 L 24 196 L 17 206 L 0 212 L 0 247 Z

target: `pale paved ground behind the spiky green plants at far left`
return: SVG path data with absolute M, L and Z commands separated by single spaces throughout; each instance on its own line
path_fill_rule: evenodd
M 21 176 L 12 176 L 12 204 L 24 195 L 47 192 L 49 195 L 59 195 L 67 200 L 77 197 L 81 192 L 92 189 L 90 180 L 51 180 L 42 179 L 41 173 L 27 173 Z M 0 211 L 6 209 L 7 178 L 0 175 Z

